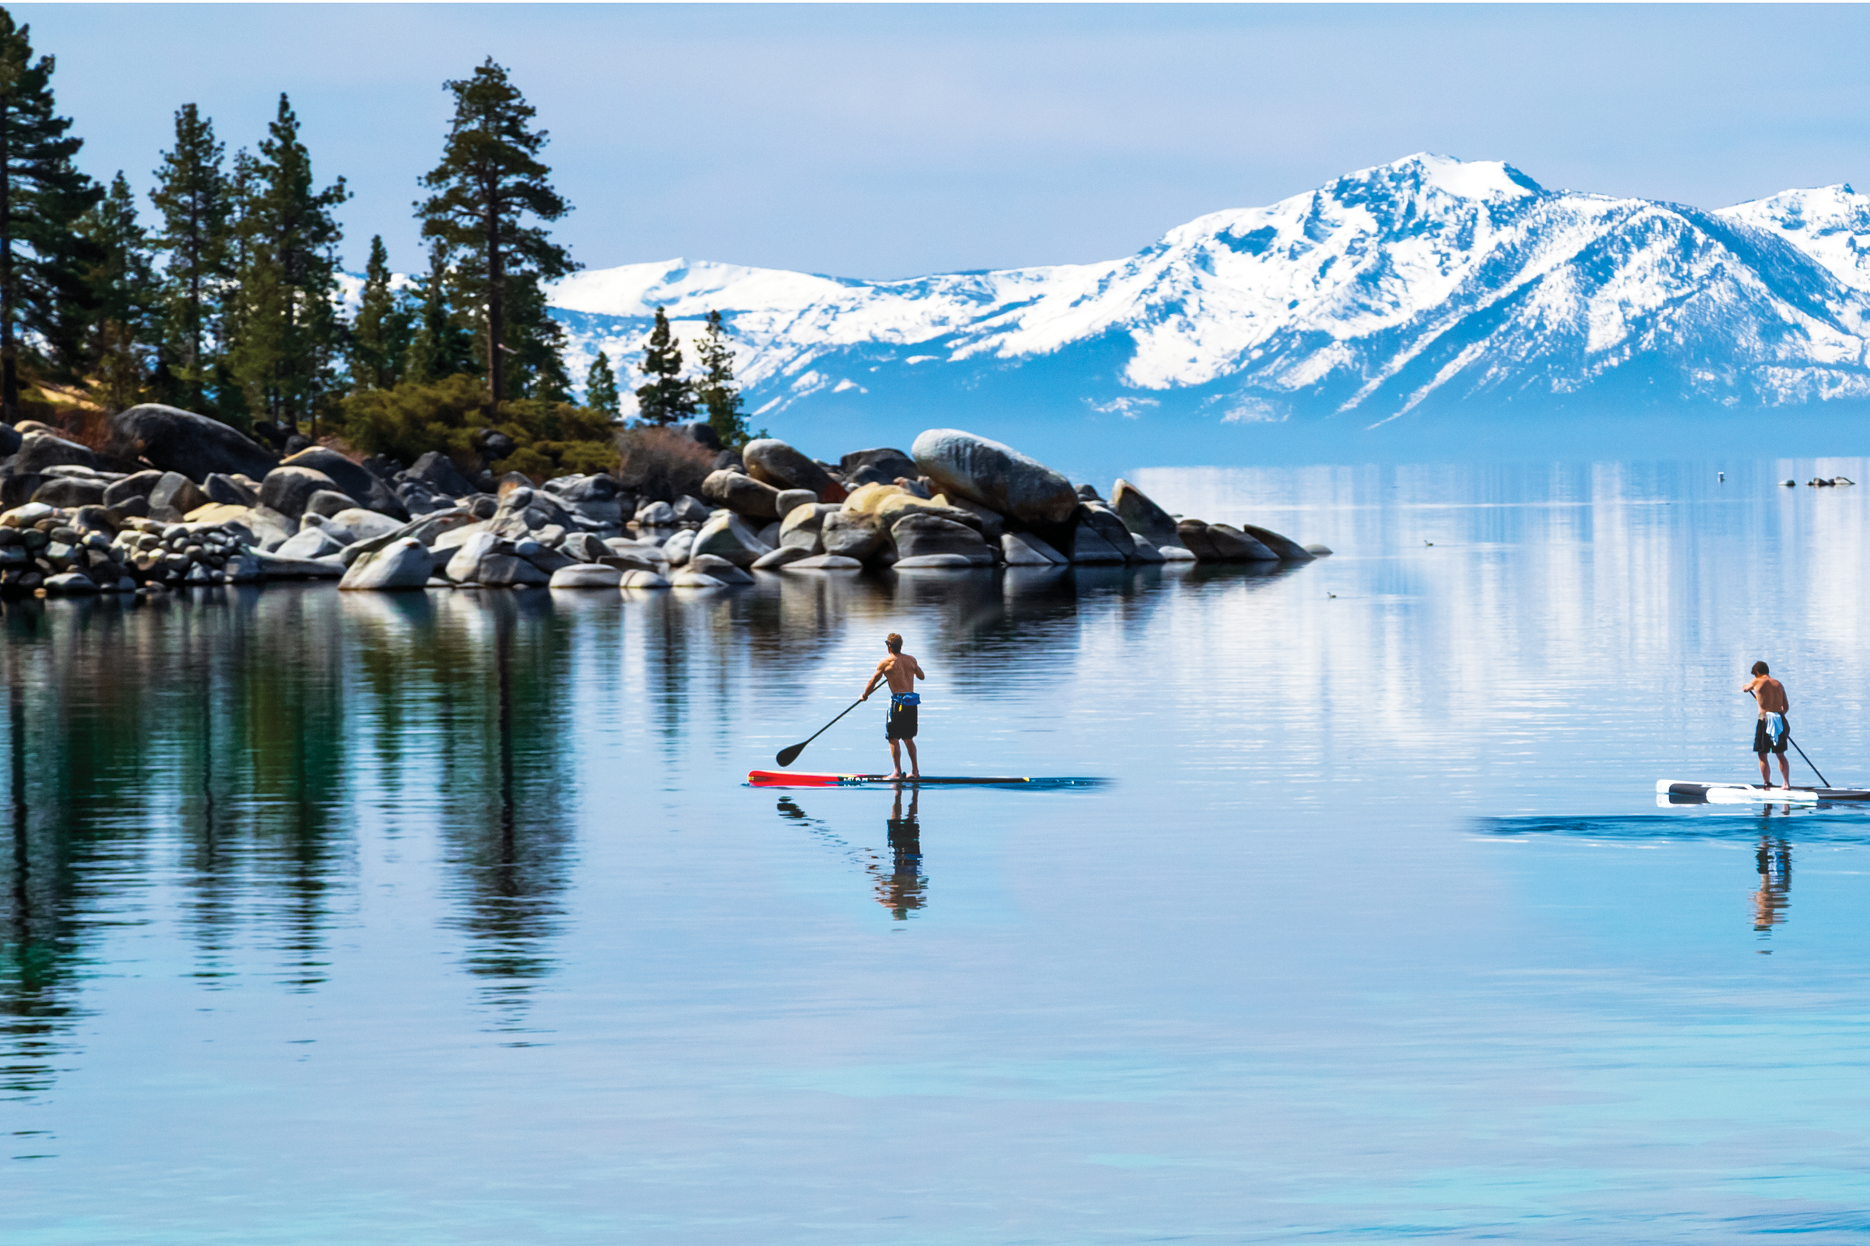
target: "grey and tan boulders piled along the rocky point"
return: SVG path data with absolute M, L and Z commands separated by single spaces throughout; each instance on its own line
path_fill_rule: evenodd
M 1174 517 L 1124 480 L 1103 499 L 959 430 L 838 463 L 752 441 L 741 454 L 718 450 L 699 495 L 662 497 L 613 474 L 475 480 L 441 454 L 408 469 L 325 446 L 275 460 L 174 407 L 133 407 L 112 432 L 114 454 L 39 426 L 0 432 L 0 592 L 279 579 L 346 590 L 726 588 L 782 570 L 1277 564 L 1330 553 L 1260 527 Z M 686 432 L 709 441 L 707 426 Z

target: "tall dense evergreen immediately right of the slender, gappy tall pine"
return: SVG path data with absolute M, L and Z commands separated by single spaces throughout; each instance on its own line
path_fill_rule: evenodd
M 236 161 L 239 164 L 239 161 Z M 344 237 L 333 209 L 350 198 L 338 177 L 312 189 L 312 157 L 299 140 L 299 118 L 286 95 L 245 174 L 237 204 L 241 267 L 236 290 L 241 323 L 234 374 L 252 411 L 297 430 L 316 420 L 331 390 L 338 346 L 337 245 Z

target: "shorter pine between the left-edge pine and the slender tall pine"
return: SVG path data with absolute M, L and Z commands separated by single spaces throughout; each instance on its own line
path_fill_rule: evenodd
M 105 405 L 122 411 L 142 396 L 155 286 L 148 239 L 137 224 L 137 198 L 123 170 L 118 170 L 103 202 L 79 219 L 77 228 L 94 248 L 92 263 L 84 269 L 90 312 L 84 355 Z

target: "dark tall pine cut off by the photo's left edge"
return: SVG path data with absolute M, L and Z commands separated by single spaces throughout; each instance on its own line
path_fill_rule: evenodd
M 69 372 L 84 349 L 84 265 L 77 220 L 103 191 L 71 157 L 84 146 L 52 103 L 52 58 L 32 58 L 32 28 L 0 9 L 0 420 L 19 418 L 21 346 Z

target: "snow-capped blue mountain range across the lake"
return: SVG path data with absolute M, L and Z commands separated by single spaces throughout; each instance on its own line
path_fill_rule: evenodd
M 572 370 L 720 310 L 755 422 L 984 402 L 1143 420 L 1782 407 L 1870 398 L 1870 198 L 1720 211 L 1412 155 L 1122 260 L 847 280 L 634 263 L 561 282 Z

